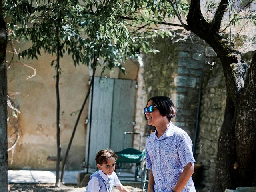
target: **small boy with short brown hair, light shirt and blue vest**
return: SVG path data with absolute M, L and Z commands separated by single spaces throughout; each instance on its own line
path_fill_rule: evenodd
M 129 192 L 114 172 L 116 160 L 117 155 L 110 149 L 100 150 L 96 154 L 95 161 L 99 170 L 90 176 L 86 192 L 111 192 L 113 186 L 121 192 Z

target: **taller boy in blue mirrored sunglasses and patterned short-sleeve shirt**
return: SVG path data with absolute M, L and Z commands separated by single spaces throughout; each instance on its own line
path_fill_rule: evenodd
M 150 98 L 144 108 L 148 125 L 156 127 L 146 140 L 146 165 L 151 170 L 148 192 L 196 192 L 191 178 L 192 141 L 172 124 L 176 113 L 172 100 L 164 96 Z

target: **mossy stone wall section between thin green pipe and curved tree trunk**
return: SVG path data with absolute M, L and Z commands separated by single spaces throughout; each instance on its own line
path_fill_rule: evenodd
M 218 137 L 224 118 L 226 85 L 220 62 L 204 73 L 196 162 L 202 170 L 196 181 L 198 190 L 209 191 L 213 185 Z

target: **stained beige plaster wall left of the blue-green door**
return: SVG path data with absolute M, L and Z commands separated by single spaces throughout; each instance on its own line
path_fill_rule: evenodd
M 10 50 L 10 47 L 8 48 Z M 12 54 L 8 53 L 8 63 Z M 36 69 L 36 76 L 31 68 L 18 61 L 17 56 L 8 68 L 8 94 L 18 92 L 12 100 L 20 114 L 18 119 L 12 117 L 8 124 L 8 147 L 12 145 L 18 128 L 20 138 L 8 152 L 9 169 L 55 169 L 56 163 L 48 161 L 48 156 L 56 156 L 56 92 L 54 67 L 50 66 L 53 57 L 43 54 L 38 60 L 28 60 L 24 63 Z M 77 115 L 70 116 L 80 109 L 88 89 L 89 70 L 87 66 L 74 66 L 70 56 L 64 56 L 60 61 L 60 142 L 62 156 L 70 140 Z M 127 74 L 124 76 L 118 69 L 114 73 L 106 71 L 105 75 L 114 78 L 136 79 L 138 64 L 129 61 L 126 64 Z M 98 69 L 96 76 L 99 76 Z M 15 97 L 15 98 L 14 98 Z M 69 153 L 67 169 L 80 169 L 85 156 L 86 125 L 88 105 L 84 109 L 78 124 L 72 147 Z

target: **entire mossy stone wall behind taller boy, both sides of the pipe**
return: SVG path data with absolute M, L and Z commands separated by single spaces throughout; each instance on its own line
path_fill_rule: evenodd
M 188 132 L 194 143 L 199 86 L 202 81 L 198 137 L 194 143 L 196 163 L 202 167 L 195 183 L 198 191 L 208 192 L 214 182 L 218 137 L 226 104 L 224 74 L 216 53 L 204 41 L 192 34 L 176 34 L 176 39 L 158 39 L 155 48 L 160 52 L 144 55 L 144 66 L 140 68 L 137 78 L 135 130 L 144 133 L 144 146 L 150 134 L 143 114 L 148 98 L 170 96 L 179 112 L 172 121 Z M 250 63 L 251 55 L 252 52 L 248 52 L 242 58 Z M 136 138 L 134 146 L 138 146 Z

